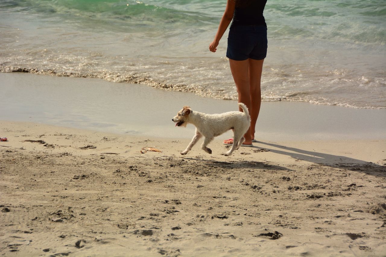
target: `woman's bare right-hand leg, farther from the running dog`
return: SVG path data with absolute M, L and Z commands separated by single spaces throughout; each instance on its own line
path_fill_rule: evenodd
M 255 127 L 257 117 L 259 117 L 260 105 L 261 105 L 261 73 L 263 69 L 262 60 L 249 60 L 249 90 L 251 96 L 251 108 L 249 108 L 249 113 L 251 115 L 251 140 L 255 139 Z

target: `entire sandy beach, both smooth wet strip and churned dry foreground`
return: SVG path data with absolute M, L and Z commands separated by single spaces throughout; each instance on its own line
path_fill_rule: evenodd
M 386 254 L 384 110 L 263 103 L 254 147 L 225 157 L 225 134 L 212 155 L 196 145 L 181 156 L 194 128 L 174 127 L 180 107 L 234 101 L 96 79 L 0 81 L 4 256 Z

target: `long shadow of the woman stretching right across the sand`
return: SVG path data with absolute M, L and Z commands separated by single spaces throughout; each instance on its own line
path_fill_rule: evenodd
M 379 175 L 386 177 L 386 166 L 375 164 L 373 162 L 362 161 L 347 156 L 337 156 L 333 154 L 325 154 L 321 152 L 311 152 L 294 147 L 287 147 L 284 145 L 269 144 L 261 141 L 257 141 L 258 144 L 268 145 L 271 147 L 283 149 L 277 150 L 264 147 L 276 154 L 283 154 L 291 156 L 294 159 L 300 159 L 303 161 L 314 162 L 324 166 L 330 166 L 335 168 L 349 169 L 351 171 L 365 172 L 371 175 Z

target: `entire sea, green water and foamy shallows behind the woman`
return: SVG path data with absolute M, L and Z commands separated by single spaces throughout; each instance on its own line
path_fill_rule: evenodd
M 237 99 L 208 51 L 225 0 L 3 0 L 0 71 L 141 83 Z M 263 101 L 386 108 L 384 0 L 268 0 Z M 129 85 L 129 84 L 128 84 Z

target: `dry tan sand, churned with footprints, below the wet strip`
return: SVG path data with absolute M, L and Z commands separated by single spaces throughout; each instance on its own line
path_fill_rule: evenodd
M 220 139 L 212 155 L 181 156 L 188 139 L 0 132 L 5 256 L 386 254 L 385 139 L 257 142 L 225 157 Z

